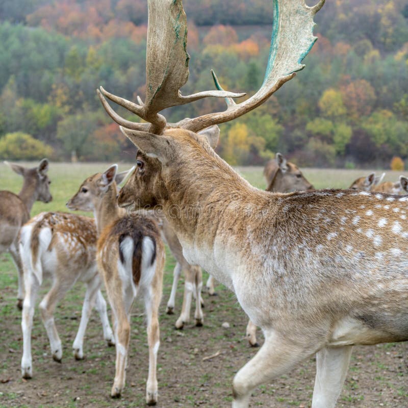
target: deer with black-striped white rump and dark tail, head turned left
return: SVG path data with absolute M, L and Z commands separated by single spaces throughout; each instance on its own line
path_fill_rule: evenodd
M 125 384 L 130 339 L 130 313 L 136 295 L 143 296 L 147 315 L 149 374 L 146 402 L 157 402 L 157 353 L 160 345 L 159 305 L 162 297 L 164 244 L 158 226 L 141 214 L 121 216 L 116 203 L 117 165 L 88 177 L 68 202 L 75 210 L 94 211 L 97 225 L 97 264 L 104 277 L 113 311 L 116 373 L 111 396 L 119 397 Z M 132 169 L 133 170 L 133 169 Z

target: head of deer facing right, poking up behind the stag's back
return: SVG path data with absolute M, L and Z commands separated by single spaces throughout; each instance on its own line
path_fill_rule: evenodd
M 299 168 L 288 162 L 281 153 L 276 153 L 276 158 L 266 163 L 264 176 L 268 185 L 266 191 L 291 193 L 314 189 Z

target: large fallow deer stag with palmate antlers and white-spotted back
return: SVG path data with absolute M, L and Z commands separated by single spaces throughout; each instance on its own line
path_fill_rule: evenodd
M 312 406 L 333 408 L 354 344 L 408 340 L 408 198 L 352 190 L 265 192 L 217 156 L 217 134 L 197 134 L 261 105 L 303 67 L 323 1 L 273 4 L 265 80 L 241 104 L 222 93 L 217 80 L 218 92 L 181 95 L 189 58 L 180 0 L 148 2 L 144 103 L 103 88 L 99 96 L 139 149 L 119 205 L 161 206 L 187 261 L 233 290 L 264 331 L 263 346 L 235 375 L 233 408 L 247 408 L 251 390 L 315 353 Z M 104 96 L 147 123 L 122 119 Z M 204 96 L 228 97 L 227 110 L 175 124 L 159 114 Z

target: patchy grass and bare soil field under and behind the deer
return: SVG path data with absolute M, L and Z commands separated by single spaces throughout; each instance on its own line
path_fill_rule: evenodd
M 49 177 L 54 200 L 48 204 L 36 202 L 32 211 L 67 211 L 65 202 L 79 188 L 81 182 L 109 164 L 52 163 Z M 119 171 L 132 164 L 121 164 Z M 265 188 L 262 168 L 237 169 L 251 184 Z M 304 175 L 316 188 L 345 188 L 368 170 L 304 169 Z M 388 172 L 385 180 L 396 181 L 399 173 Z M 0 189 L 18 192 L 21 177 L 0 164 Z M 164 314 L 171 289 L 174 259 L 167 253 L 164 295 L 161 305 L 161 346 L 159 350 L 159 407 L 227 407 L 230 406 L 231 384 L 234 373 L 256 352 L 244 338 L 246 316 L 235 296 L 217 287 L 218 296 L 204 295 L 204 326 L 190 323 L 182 331 L 173 329 L 177 315 Z M 207 275 L 205 275 L 207 277 Z M 49 285 L 44 284 L 42 294 Z M 182 302 L 182 283 L 177 294 L 175 313 Z M 118 400 L 109 398 L 114 376 L 115 353 L 107 348 L 101 336 L 96 313 L 90 319 L 84 351 L 84 361 L 74 361 L 71 345 L 78 329 L 84 289 L 76 285 L 61 302 L 56 312 L 56 324 L 63 342 L 63 363 L 52 361 L 45 329 L 38 310 L 33 328 L 32 380 L 20 378 L 22 350 L 20 320 L 16 309 L 17 276 L 8 254 L 0 256 L 0 408 L 2 407 L 128 407 L 144 406 L 144 388 L 147 376 L 147 341 L 143 309 L 136 305 L 132 315 L 132 339 L 127 370 L 126 388 Z M 41 298 L 41 297 L 40 297 Z M 194 319 L 192 319 L 193 321 Z M 223 322 L 230 328 L 222 327 Z M 259 334 L 262 343 L 262 335 Z M 386 344 L 356 347 L 345 388 L 338 407 L 372 408 L 374 406 L 407 407 L 407 344 Z M 202 358 L 220 352 L 211 360 Z M 304 362 L 289 375 L 254 392 L 251 406 L 309 407 L 315 373 L 313 359 Z

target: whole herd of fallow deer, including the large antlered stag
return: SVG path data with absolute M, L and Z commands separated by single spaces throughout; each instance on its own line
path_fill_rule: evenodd
M 18 271 L 22 309 L 21 374 L 33 376 L 31 330 L 34 306 L 45 278 L 52 288 L 39 304 L 53 359 L 62 345 L 54 322 L 57 303 L 80 281 L 86 285 L 81 321 L 73 342 L 83 359 L 93 307 L 104 339 L 116 347 L 111 396 L 121 394 L 130 339 L 130 313 L 137 296 L 147 320 L 149 372 L 146 403 L 156 404 L 160 346 L 164 241 L 177 261 L 167 313 L 181 271 L 183 309 L 177 328 L 190 319 L 203 324 L 202 271 L 231 289 L 249 317 L 247 338 L 264 343 L 233 380 L 233 408 L 247 408 L 251 391 L 316 355 L 313 408 L 333 408 L 341 392 L 352 346 L 408 340 L 408 179 L 381 183 L 370 173 L 345 190 L 315 190 L 281 154 L 265 167 L 266 191 L 252 187 L 214 151 L 218 124 L 263 104 L 303 68 L 316 37 L 313 7 L 303 0 L 274 2 L 271 52 L 259 91 L 217 90 L 182 95 L 188 79 L 187 21 L 181 0 L 149 0 L 146 97 L 137 103 L 97 90 L 108 114 L 136 146 L 136 165 L 117 165 L 87 177 L 67 202 L 75 213 L 45 212 L 30 219 L 35 200 L 49 202 L 48 161 L 10 167 L 23 176 L 16 195 L 0 192 L 0 251 L 9 251 Z M 168 123 L 159 112 L 205 97 L 221 97 L 226 110 Z M 107 99 L 143 122 L 119 116 Z M 118 185 L 126 180 L 121 188 Z M 132 211 L 130 211 L 132 209 Z M 146 211 L 152 210 L 152 211 Z M 22 283 L 24 285 L 22 285 Z M 214 292 L 211 281 L 210 292 Z M 112 327 L 101 292 L 112 309 Z

